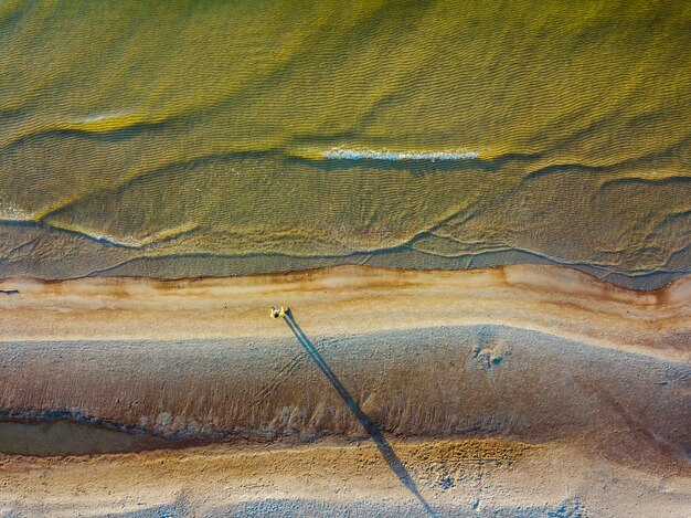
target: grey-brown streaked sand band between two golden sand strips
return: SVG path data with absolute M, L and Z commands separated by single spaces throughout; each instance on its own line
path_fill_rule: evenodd
M 688 366 L 493 326 L 315 343 L 363 412 L 398 436 L 588 435 L 610 456 L 635 447 L 637 465 L 691 447 Z M 291 336 L 4 343 L 2 352 L 0 405 L 13 419 L 72 416 L 173 437 L 366 436 Z

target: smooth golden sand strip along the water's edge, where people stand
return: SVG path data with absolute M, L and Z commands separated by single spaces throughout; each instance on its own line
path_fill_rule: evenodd
M 19 293 L 0 297 L 0 341 L 279 337 L 268 307 L 287 305 L 319 336 L 491 324 L 691 358 L 691 276 L 637 292 L 557 266 L 338 266 L 181 281 L 14 278 L 2 287 Z

